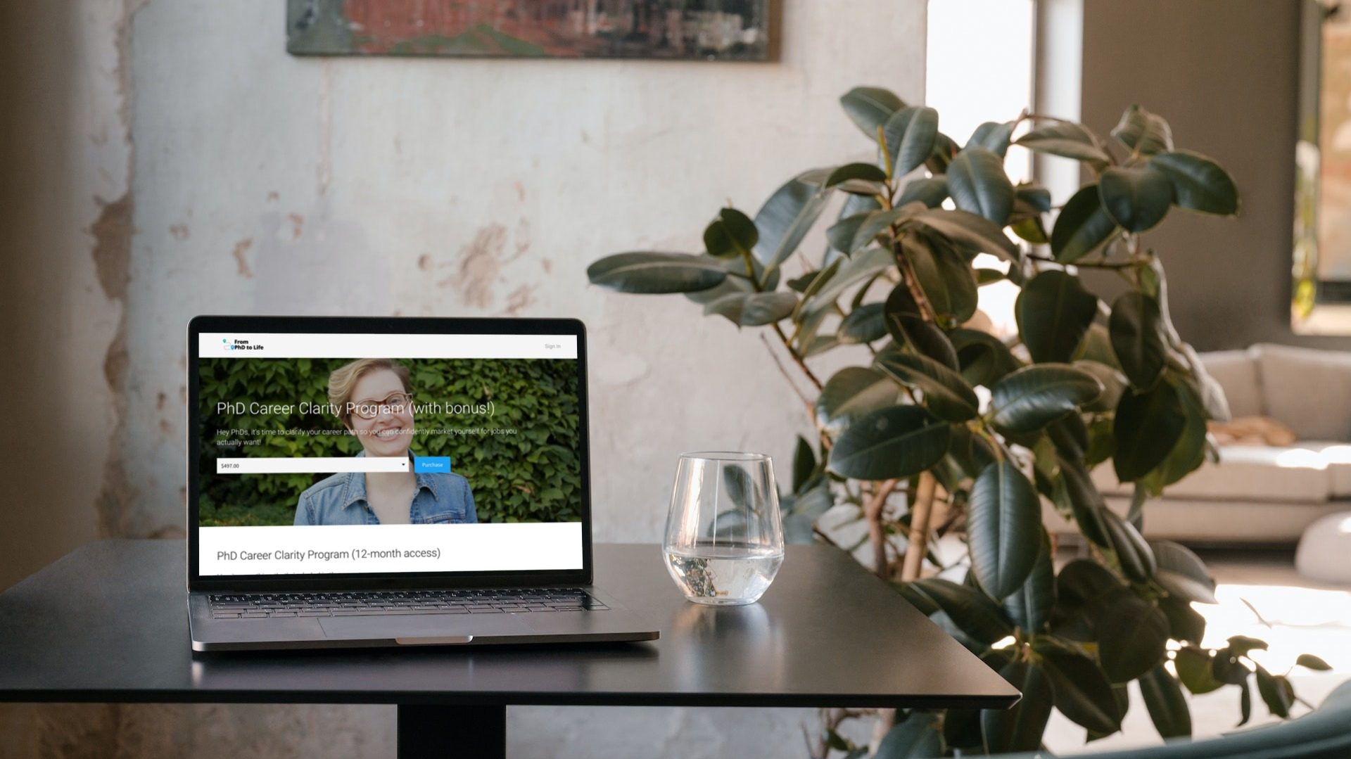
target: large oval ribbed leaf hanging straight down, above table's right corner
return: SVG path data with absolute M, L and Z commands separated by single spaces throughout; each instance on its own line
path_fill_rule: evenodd
M 1008 461 L 992 463 L 971 486 L 967 538 L 971 573 L 993 598 L 1006 598 L 1032 573 L 1040 547 L 1042 504 Z

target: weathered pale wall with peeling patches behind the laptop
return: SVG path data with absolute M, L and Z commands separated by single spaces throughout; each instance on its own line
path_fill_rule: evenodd
M 923 0 L 781 15 L 766 65 L 323 59 L 285 54 L 276 1 L 4 4 L 0 28 L 41 45 L 0 51 L 0 397 L 38 431 L 0 436 L 0 587 L 99 535 L 181 535 L 195 313 L 582 317 L 598 540 L 659 539 L 682 450 L 786 463 L 805 420 L 754 332 L 585 280 L 604 253 L 694 250 L 727 200 L 754 211 L 801 167 L 866 157 L 848 86 L 921 100 Z M 808 716 L 515 709 L 511 752 L 798 754 Z M 7 708 L 0 754 L 388 755 L 392 717 Z

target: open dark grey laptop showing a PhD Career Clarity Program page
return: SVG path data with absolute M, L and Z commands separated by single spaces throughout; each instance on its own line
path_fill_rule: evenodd
M 574 319 L 188 324 L 195 651 L 654 640 L 592 585 Z

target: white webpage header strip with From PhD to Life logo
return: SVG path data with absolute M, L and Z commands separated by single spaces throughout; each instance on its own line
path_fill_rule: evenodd
M 203 332 L 201 358 L 577 358 L 576 335 Z

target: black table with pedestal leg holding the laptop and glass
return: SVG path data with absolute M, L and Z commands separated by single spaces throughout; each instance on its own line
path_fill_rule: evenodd
M 180 540 L 84 546 L 0 593 L 0 701 L 397 704 L 401 756 L 505 754 L 508 705 L 1006 708 L 1019 693 L 848 555 L 792 546 L 759 604 L 688 604 L 597 546 L 653 643 L 193 654 Z M 471 736 L 466 739 L 465 736 Z

